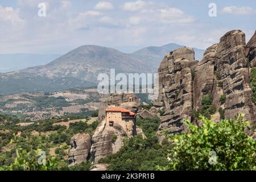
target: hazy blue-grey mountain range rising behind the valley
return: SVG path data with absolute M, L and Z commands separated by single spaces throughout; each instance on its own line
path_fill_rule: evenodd
M 0 94 L 56 92 L 96 86 L 98 73 L 109 73 L 110 68 L 116 73 L 155 73 L 163 57 L 180 47 L 184 46 L 171 43 L 123 53 L 108 47 L 80 46 L 48 64 L 0 73 Z M 196 59 L 200 60 L 204 50 L 195 48 L 195 53 Z

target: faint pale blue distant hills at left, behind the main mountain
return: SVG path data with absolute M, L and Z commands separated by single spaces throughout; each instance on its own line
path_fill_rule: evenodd
M 60 54 L 39 55 L 32 53 L 0 54 L 0 73 L 44 65 L 60 56 Z

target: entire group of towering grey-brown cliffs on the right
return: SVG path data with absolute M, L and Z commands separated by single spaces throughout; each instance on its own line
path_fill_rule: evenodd
M 245 43 L 240 30 L 227 32 L 220 43 L 213 44 L 201 61 L 194 60 L 191 48 L 179 48 L 164 57 L 159 72 L 159 97 L 155 107 L 164 107 L 159 130 L 174 133 L 184 130 L 181 121 L 192 120 L 192 110 L 199 111 L 204 96 L 212 96 L 213 105 L 225 110 L 225 119 L 237 113 L 255 124 L 256 107 L 251 101 L 250 68 L 256 66 L 256 32 Z M 225 104 L 220 97 L 225 94 Z M 214 114 L 214 121 L 220 115 Z

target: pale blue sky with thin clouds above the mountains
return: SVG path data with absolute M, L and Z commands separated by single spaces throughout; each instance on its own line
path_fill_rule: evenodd
M 62 54 L 87 44 L 122 52 L 168 43 L 206 49 L 234 29 L 248 41 L 255 17 L 255 0 L 0 0 L 0 53 Z

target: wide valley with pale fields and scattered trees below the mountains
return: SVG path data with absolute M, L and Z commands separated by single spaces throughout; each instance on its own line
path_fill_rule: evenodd
M 32 121 L 97 111 L 100 100 L 96 88 L 72 89 L 53 93 L 18 93 L 0 96 L 0 111 Z

